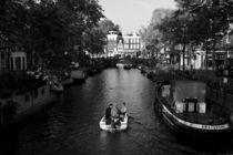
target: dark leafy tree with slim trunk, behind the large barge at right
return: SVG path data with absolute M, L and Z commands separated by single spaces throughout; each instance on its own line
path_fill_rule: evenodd
M 205 49 L 205 69 L 209 65 L 209 52 L 214 54 L 216 43 L 229 30 L 230 17 L 233 16 L 233 1 L 231 0 L 176 0 L 179 10 L 176 13 L 189 13 L 193 17 L 192 42 L 203 44 Z M 199 32 L 199 33 L 195 33 Z M 213 56 L 214 58 L 214 56 Z

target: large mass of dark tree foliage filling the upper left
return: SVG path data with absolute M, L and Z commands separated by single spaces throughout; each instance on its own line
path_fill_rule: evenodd
M 59 65 L 64 51 L 77 52 L 83 32 L 104 17 L 98 0 L 2 0 L 0 11 L 9 46 L 34 53 L 48 65 Z

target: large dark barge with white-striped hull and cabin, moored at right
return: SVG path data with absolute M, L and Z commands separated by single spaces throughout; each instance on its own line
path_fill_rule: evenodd
M 232 116 L 206 100 L 205 83 L 158 82 L 155 91 L 154 107 L 173 131 L 194 137 L 223 137 L 232 132 Z

